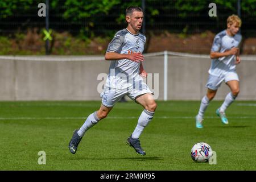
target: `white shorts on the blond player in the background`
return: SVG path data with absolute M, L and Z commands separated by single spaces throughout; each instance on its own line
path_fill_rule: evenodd
M 231 80 L 239 81 L 238 75 L 235 71 L 228 72 L 221 76 L 209 75 L 207 84 L 205 86 L 211 90 L 217 90 L 221 86 L 222 81 L 225 81 L 226 83 Z

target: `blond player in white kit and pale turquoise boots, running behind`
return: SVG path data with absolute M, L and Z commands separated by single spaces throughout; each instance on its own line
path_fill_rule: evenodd
M 216 114 L 221 118 L 222 123 L 228 125 L 228 119 L 225 110 L 238 96 L 240 91 L 239 78 L 236 72 L 236 65 L 240 63 L 240 43 L 242 40 L 239 29 L 241 19 L 237 15 L 231 15 L 227 19 L 227 28 L 218 33 L 210 50 L 212 64 L 209 69 L 209 78 L 207 82 L 207 94 L 201 100 L 199 113 L 196 115 L 196 127 L 203 128 L 203 118 L 209 102 L 216 95 L 217 89 L 222 81 L 225 81 L 231 92 L 227 94 L 223 104 L 216 110 Z

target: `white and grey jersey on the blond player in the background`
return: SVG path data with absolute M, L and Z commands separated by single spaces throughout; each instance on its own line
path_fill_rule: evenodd
M 241 34 L 236 34 L 234 36 L 229 36 L 226 30 L 218 33 L 214 40 L 211 52 L 225 52 L 233 47 L 239 47 L 242 40 Z M 236 55 L 219 57 L 217 59 L 212 59 L 210 65 L 209 74 L 213 76 L 225 75 L 228 72 L 236 71 Z

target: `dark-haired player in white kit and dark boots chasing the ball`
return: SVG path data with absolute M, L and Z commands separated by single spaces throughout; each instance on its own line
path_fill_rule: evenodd
M 138 154 L 145 155 L 141 147 L 139 136 L 153 118 L 156 102 L 152 92 L 143 82 L 147 76 L 142 66 L 144 44 L 146 36 L 141 34 L 143 11 L 141 7 L 130 6 L 126 9 L 127 28 L 118 31 L 109 43 L 105 60 L 110 60 L 109 75 L 106 79 L 104 92 L 101 93 L 102 104 L 99 110 L 90 114 L 84 125 L 73 133 L 69 142 L 69 151 L 75 154 L 82 137 L 91 127 L 101 119 L 107 117 L 114 104 L 127 95 L 132 100 L 144 107 L 135 130 L 127 139 L 127 144 L 135 149 Z

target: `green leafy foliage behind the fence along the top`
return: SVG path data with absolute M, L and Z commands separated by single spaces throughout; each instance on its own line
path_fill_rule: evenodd
M 38 4 L 46 0 L 1 0 L 0 20 L 9 22 L 38 21 Z M 88 32 L 93 28 L 102 29 L 125 24 L 127 6 L 141 6 L 141 0 L 49 0 L 50 22 L 69 24 L 72 28 Z M 237 0 L 145 0 L 146 14 L 144 17 L 148 26 L 166 22 L 209 21 L 209 3 L 216 3 L 218 17 L 226 19 L 228 14 L 237 14 Z M 241 1 L 242 18 L 254 21 L 256 16 L 256 0 Z M 27 17 L 26 17 L 27 15 Z M 34 17 L 31 17 L 34 15 Z M 196 18 L 196 19 L 195 19 Z M 221 19 L 221 20 L 222 20 Z M 41 19 L 42 20 L 42 19 Z M 214 18 L 210 19 L 214 21 Z M 42 23 L 43 24 L 43 23 Z M 82 26 L 81 26 L 82 24 Z M 78 26 L 80 25 L 80 26 Z M 55 24 L 51 24 L 55 26 Z M 186 25 L 185 25 L 186 26 Z M 159 26 L 160 27 L 160 26 Z M 2 27 L 3 28 L 3 27 Z M 60 27 L 61 28 L 61 27 Z M 183 27 L 184 28 L 184 27 Z M 1 27 L 0 27 L 1 29 Z M 63 28 L 64 29 L 64 28 Z M 90 34 L 93 32 L 90 32 Z

